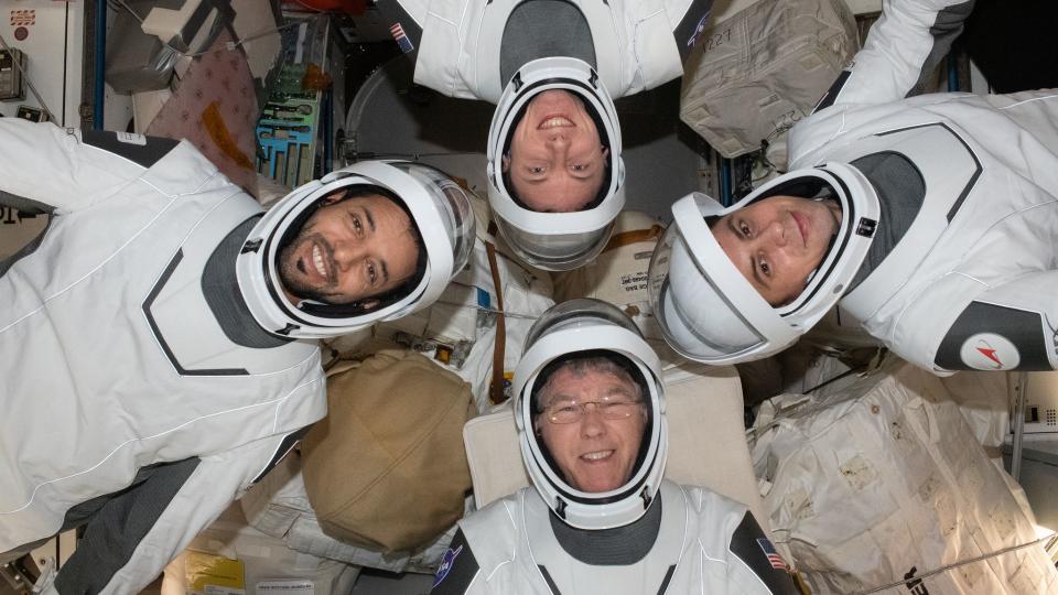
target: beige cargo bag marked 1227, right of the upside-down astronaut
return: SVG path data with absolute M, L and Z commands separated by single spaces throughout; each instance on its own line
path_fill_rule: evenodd
M 760 0 L 698 37 L 680 119 L 725 158 L 782 142 L 856 50 L 844 0 Z

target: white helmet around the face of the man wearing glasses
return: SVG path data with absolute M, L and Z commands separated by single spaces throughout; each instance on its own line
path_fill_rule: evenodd
M 598 357 L 638 385 L 646 423 L 627 480 L 614 489 L 589 493 L 563 475 L 535 422 L 551 423 L 539 402 L 551 375 L 564 363 Z M 537 491 L 559 518 L 572 527 L 595 530 L 628 524 L 646 512 L 658 493 L 668 454 L 665 392 L 658 356 L 624 312 L 592 299 L 549 309 L 529 329 L 514 389 L 522 461 Z

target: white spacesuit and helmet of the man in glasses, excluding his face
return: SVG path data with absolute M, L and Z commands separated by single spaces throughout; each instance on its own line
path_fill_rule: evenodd
M 639 385 L 648 421 L 627 482 L 587 493 L 566 482 L 553 463 L 561 455 L 533 432 L 532 396 L 549 364 L 603 350 Z M 548 311 L 515 374 L 515 418 L 533 487 L 460 521 L 432 593 L 796 593 L 745 506 L 662 479 L 668 430 L 659 367 L 615 306 L 573 300 Z

